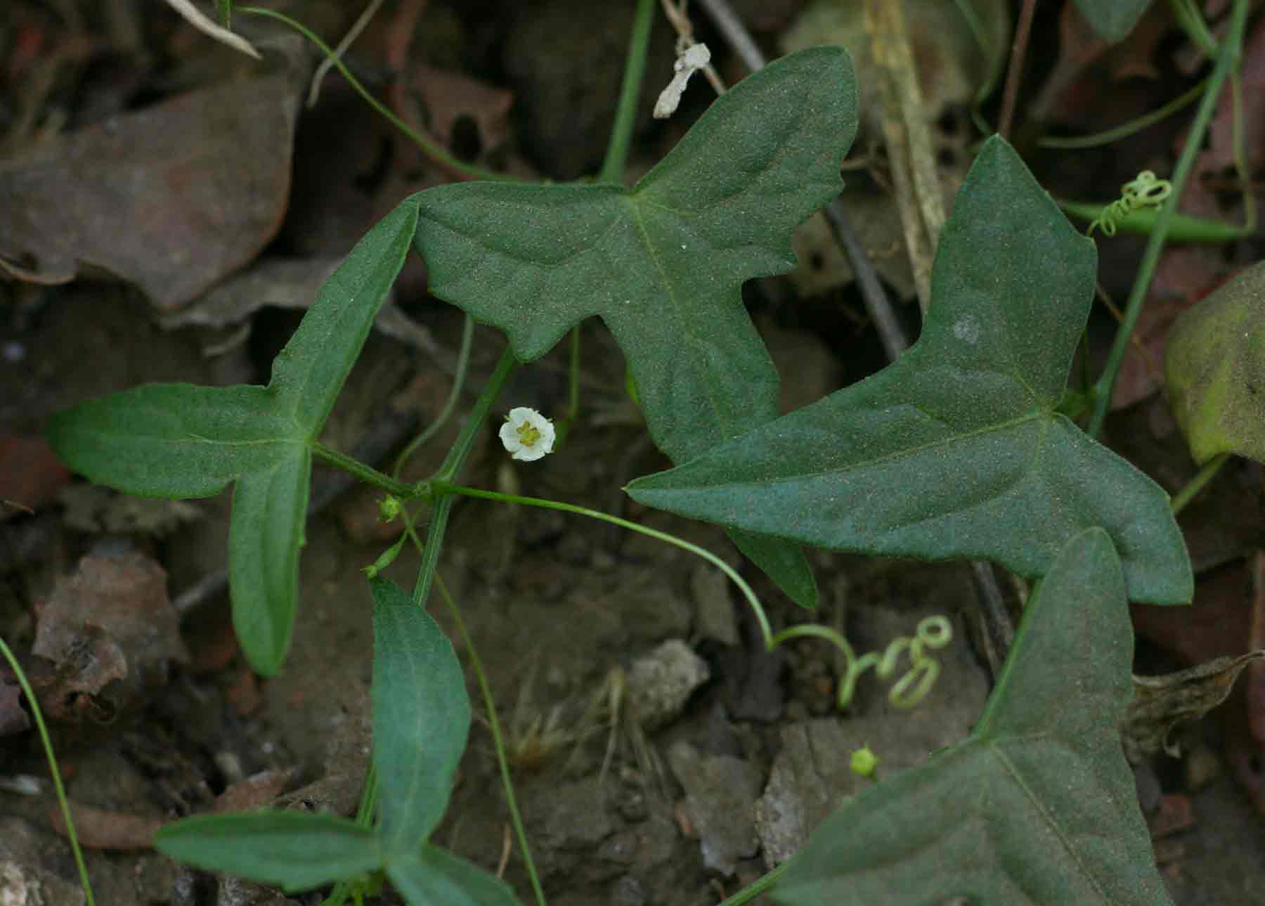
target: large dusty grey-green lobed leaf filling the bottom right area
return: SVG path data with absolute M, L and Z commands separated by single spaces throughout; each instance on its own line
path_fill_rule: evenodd
M 970 738 L 849 800 L 773 898 L 1171 905 L 1120 744 L 1132 654 L 1120 559 L 1088 529 L 1025 607 Z

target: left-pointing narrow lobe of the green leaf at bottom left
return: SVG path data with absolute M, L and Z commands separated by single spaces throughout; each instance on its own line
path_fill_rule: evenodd
M 377 834 L 338 815 L 197 815 L 162 828 L 154 849 L 211 872 L 305 891 L 382 867 Z

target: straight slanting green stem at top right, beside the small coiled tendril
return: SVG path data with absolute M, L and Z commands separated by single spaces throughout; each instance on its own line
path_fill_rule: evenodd
M 1094 399 L 1094 413 L 1089 420 L 1089 437 L 1097 438 L 1102 434 L 1103 423 L 1107 420 L 1107 410 L 1111 407 L 1112 392 L 1116 388 L 1116 378 L 1120 376 L 1125 353 L 1128 349 L 1130 337 L 1137 326 L 1137 319 L 1142 314 L 1142 304 L 1146 300 L 1147 290 L 1151 287 L 1151 278 L 1155 276 L 1155 266 L 1159 263 L 1160 252 L 1169 234 L 1169 223 L 1176 211 L 1178 201 L 1182 199 L 1182 190 L 1185 187 L 1190 170 L 1194 167 L 1195 154 L 1203 144 L 1204 133 L 1212 121 L 1213 110 L 1217 106 L 1217 97 L 1221 86 L 1225 84 L 1230 71 L 1238 63 L 1240 47 L 1243 40 L 1243 29 L 1247 23 L 1247 0 L 1235 0 L 1230 16 L 1230 30 L 1217 51 L 1217 65 L 1208 78 L 1208 87 L 1199 102 L 1190 133 L 1187 135 L 1185 147 L 1182 148 L 1182 157 L 1178 159 L 1176 170 L 1173 172 L 1173 194 L 1168 204 L 1160 209 L 1160 216 L 1155 223 L 1155 232 L 1146 243 L 1142 253 L 1142 263 L 1138 267 L 1137 278 L 1128 294 L 1128 302 L 1125 306 L 1125 320 L 1121 323 L 1116 339 L 1112 343 L 1111 354 L 1107 358 L 1107 368 L 1098 378 Z

